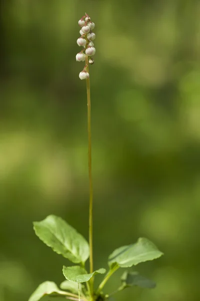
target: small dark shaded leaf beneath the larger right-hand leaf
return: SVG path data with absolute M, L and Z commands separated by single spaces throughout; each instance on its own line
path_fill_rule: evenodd
M 121 286 L 118 290 L 134 285 L 144 288 L 154 288 L 156 286 L 154 281 L 139 275 L 138 272 L 125 271 L 121 276 Z

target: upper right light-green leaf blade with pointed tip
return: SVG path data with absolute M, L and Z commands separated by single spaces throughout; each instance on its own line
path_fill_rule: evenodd
M 147 238 L 139 238 L 136 243 L 120 247 L 108 257 L 108 264 L 112 267 L 130 267 L 140 262 L 159 258 L 163 253 Z

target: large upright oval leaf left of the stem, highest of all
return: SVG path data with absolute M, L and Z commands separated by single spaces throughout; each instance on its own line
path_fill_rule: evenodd
M 35 234 L 47 246 L 73 263 L 84 263 L 89 257 L 88 242 L 60 217 L 49 215 L 33 225 Z

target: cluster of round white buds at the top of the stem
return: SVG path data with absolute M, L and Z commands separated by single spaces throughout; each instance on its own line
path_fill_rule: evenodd
M 78 25 L 81 27 L 79 33 L 80 38 L 77 39 L 78 46 L 82 46 L 82 50 L 76 54 L 75 58 L 77 62 L 86 62 L 89 64 L 93 64 L 94 60 L 91 58 L 96 52 L 93 44 L 93 40 L 95 39 L 95 34 L 92 33 L 95 24 L 91 22 L 90 17 L 85 13 L 79 21 Z M 87 72 L 87 64 L 85 64 L 84 69 L 79 73 L 80 79 L 86 79 L 89 77 L 89 73 Z

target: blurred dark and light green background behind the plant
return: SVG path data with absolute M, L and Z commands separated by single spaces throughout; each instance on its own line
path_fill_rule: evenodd
M 88 236 L 86 90 L 75 61 L 84 12 L 96 25 L 94 267 L 145 236 L 164 256 L 137 270 L 157 287 L 116 300 L 199 300 L 199 0 L 0 3 L 0 301 L 59 284 L 70 264 L 32 221 L 59 215 Z

